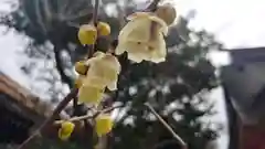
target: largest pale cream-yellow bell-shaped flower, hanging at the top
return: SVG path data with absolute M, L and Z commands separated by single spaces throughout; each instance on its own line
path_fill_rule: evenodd
M 140 63 L 151 61 L 160 63 L 166 60 L 167 49 L 163 36 L 168 34 L 167 23 L 151 12 L 136 12 L 119 33 L 117 55 L 127 51 L 128 58 Z

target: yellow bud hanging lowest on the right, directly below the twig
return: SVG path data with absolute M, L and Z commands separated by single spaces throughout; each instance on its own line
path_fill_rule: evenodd
M 98 137 L 102 137 L 113 129 L 114 121 L 109 115 L 102 114 L 95 118 L 95 130 Z

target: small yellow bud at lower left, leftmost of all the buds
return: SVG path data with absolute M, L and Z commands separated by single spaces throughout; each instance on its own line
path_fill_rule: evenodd
M 74 131 L 74 128 L 75 125 L 71 121 L 62 123 L 61 128 L 59 129 L 59 138 L 62 140 L 67 140 Z

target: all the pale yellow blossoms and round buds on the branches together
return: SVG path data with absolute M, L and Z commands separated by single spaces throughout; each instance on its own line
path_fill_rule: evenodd
M 165 36 L 169 25 L 176 20 L 176 10 L 170 4 L 159 6 L 155 12 L 135 12 L 127 17 L 127 24 L 118 35 L 118 45 L 114 52 L 95 52 L 92 57 L 75 64 L 78 77 L 75 85 L 78 88 L 78 103 L 91 105 L 98 109 L 105 89 L 116 91 L 120 64 L 114 55 L 125 52 L 132 62 L 149 61 L 160 63 L 166 61 L 167 47 Z M 94 45 L 98 36 L 110 34 L 106 22 L 81 25 L 78 39 L 83 45 Z M 94 119 L 95 131 L 102 137 L 114 126 L 108 114 L 99 114 Z M 61 124 L 59 137 L 66 140 L 71 137 L 75 125 L 71 121 Z

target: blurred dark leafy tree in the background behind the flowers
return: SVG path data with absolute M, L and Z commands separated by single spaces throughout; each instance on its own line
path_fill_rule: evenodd
M 117 36 L 124 18 L 136 11 L 132 0 L 102 0 L 99 20 L 112 26 L 112 36 Z M 76 77 L 73 64 L 87 52 L 77 40 L 80 24 L 92 18 L 91 0 L 19 0 L 10 13 L 1 15 L 1 24 L 14 29 L 29 39 L 23 54 L 29 58 L 21 65 L 35 82 L 45 83 L 47 98 L 57 103 L 73 86 Z M 205 31 L 194 32 L 188 20 L 171 26 L 167 38 L 167 62 L 120 63 L 123 72 L 118 91 L 109 94 L 113 102 L 121 103 L 109 147 L 115 149 L 170 149 L 180 148 L 171 135 L 142 106 L 153 108 L 188 142 L 190 149 L 206 148 L 218 137 L 218 128 L 211 120 L 213 102 L 209 92 L 218 86 L 215 68 L 206 58 L 210 50 L 221 44 Z M 183 38 L 184 36 L 184 38 Z M 100 39 L 98 50 L 105 51 Z M 126 67 L 125 67 L 126 66 Z M 63 87 L 62 87 L 63 86 Z M 45 147 L 47 148 L 47 147 Z

